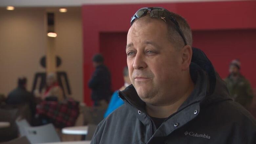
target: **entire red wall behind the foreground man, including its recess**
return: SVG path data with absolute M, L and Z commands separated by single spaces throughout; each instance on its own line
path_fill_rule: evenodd
M 233 58 L 242 62 L 242 73 L 256 87 L 255 68 L 256 1 L 160 3 L 129 5 L 84 5 L 83 68 L 84 102 L 91 105 L 87 83 L 94 71 L 92 56 L 100 52 L 112 72 L 113 90 L 123 84 L 126 64 L 126 33 L 130 18 L 141 7 L 164 7 L 187 19 L 193 30 L 194 45 L 202 49 L 222 77 Z

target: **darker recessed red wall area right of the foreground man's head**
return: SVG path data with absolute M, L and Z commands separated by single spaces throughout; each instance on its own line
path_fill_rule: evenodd
M 222 78 L 231 60 L 241 61 L 241 72 L 256 88 L 256 29 L 193 31 L 193 46 L 202 49 Z

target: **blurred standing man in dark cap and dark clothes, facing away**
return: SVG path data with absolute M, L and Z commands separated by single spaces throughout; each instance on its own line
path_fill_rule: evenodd
M 106 105 L 106 101 L 111 96 L 111 75 L 108 68 L 104 65 L 104 58 L 101 54 L 93 57 L 95 72 L 90 79 L 88 86 L 92 89 L 92 100 L 94 106 Z

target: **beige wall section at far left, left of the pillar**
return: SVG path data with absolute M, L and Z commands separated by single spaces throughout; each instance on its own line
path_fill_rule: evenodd
M 44 9 L 0 9 L 0 93 L 7 95 L 20 76 L 31 90 L 35 72 L 45 71 L 39 64 L 45 50 Z

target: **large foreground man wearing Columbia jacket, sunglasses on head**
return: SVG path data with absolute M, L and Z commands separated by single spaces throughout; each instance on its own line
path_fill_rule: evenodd
M 256 142 L 255 119 L 230 99 L 203 51 L 191 48 L 181 16 L 142 8 L 131 25 L 126 53 L 132 85 L 119 92 L 125 104 L 98 125 L 92 144 Z

